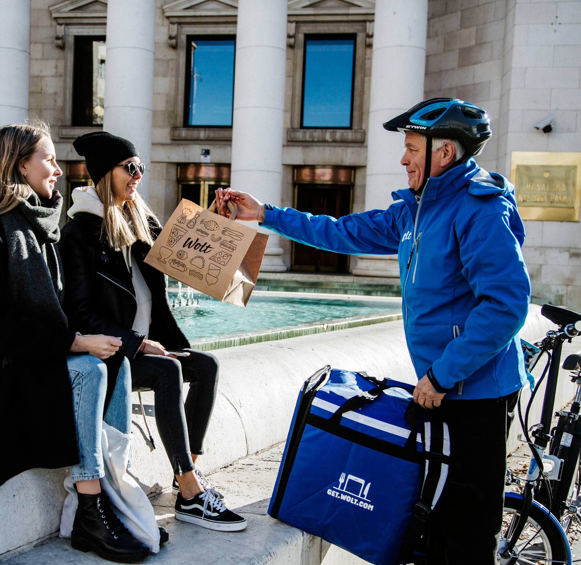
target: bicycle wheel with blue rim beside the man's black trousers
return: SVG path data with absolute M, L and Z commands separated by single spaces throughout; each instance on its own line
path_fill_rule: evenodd
M 522 498 L 504 497 L 503 527 L 500 532 L 497 559 L 500 565 L 512 563 L 510 559 L 500 557 L 500 553 L 507 546 L 517 525 L 522 502 Z M 548 516 L 547 510 L 535 505 L 530 509 L 529 518 L 515 547 L 515 552 L 518 559 L 513 565 L 571 563 L 569 542 L 558 523 Z

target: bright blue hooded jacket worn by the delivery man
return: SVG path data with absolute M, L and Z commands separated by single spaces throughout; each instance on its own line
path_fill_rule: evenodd
M 392 255 L 400 266 L 407 346 L 418 379 L 448 399 L 498 398 L 526 382 L 518 330 L 530 281 L 514 187 L 469 159 L 386 210 L 338 220 L 268 206 L 263 227 L 338 253 Z

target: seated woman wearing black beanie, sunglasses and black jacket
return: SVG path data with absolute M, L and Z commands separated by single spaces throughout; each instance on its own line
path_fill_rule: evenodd
M 243 530 L 246 520 L 224 506 L 195 465 L 216 399 L 218 362 L 188 349 L 162 273 L 144 263 L 161 227 L 137 192 L 145 170 L 139 152 L 106 131 L 81 135 L 73 145 L 95 186 L 74 189 L 72 219 L 62 230 L 65 311 L 82 332 L 119 335 L 123 345 L 114 358 L 130 360 L 132 389 L 155 391 L 156 424 L 174 472 L 175 517 L 211 530 Z

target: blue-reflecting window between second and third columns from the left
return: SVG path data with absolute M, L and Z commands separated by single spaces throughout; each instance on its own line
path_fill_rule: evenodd
M 234 39 L 193 40 L 187 106 L 189 126 L 232 126 L 234 43 Z

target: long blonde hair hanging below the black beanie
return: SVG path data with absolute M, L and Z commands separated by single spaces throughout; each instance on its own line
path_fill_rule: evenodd
M 149 228 L 160 225 L 155 213 L 139 193 L 135 194 L 135 200 L 125 201 L 123 208 L 117 206 L 113 196 L 112 176 L 112 171 L 109 171 L 95 187 L 103 202 L 101 235 L 105 235 L 115 251 L 138 240 L 153 245 Z

